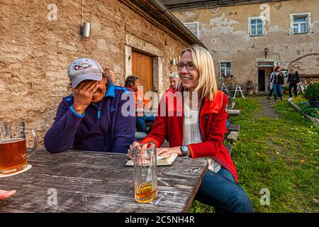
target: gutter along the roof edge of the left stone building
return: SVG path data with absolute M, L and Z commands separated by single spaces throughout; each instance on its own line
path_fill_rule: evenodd
M 172 23 L 174 23 L 183 33 L 185 33 L 186 35 L 189 35 L 191 37 L 191 40 L 194 41 L 194 43 L 201 45 L 203 48 L 206 48 L 205 45 L 201 42 L 201 40 L 198 40 L 198 38 L 191 33 L 191 31 L 189 31 L 188 28 L 186 28 L 184 26 L 183 23 L 181 23 L 181 21 L 179 21 L 170 11 L 169 9 L 167 9 L 166 6 L 164 6 L 164 4 L 162 4 L 162 2 L 158 1 L 158 0 L 148 0 L 148 2 L 150 4 L 152 4 L 153 6 L 155 6 L 155 8 L 160 11 L 161 13 L 164 14 L 164 16 L 166 16 L 167 18 L 169 18 L 169 20 L 172 21 Z

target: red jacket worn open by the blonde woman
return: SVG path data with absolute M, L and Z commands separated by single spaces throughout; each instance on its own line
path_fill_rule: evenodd
M 175 100 L 178 99 L 179 102 L 172 101 L 169 98 L 169 92 L 172 92 Z M 164 143 L 165 135 L 168 134 L 170 148 L 182 145 L 184 140 L 184 109 L 182 105 L 181 92 L 176 92 L 174 89 L 167 90 L 159 103 L 152 131 L 140 143 L 154 141 L 157 148 L 160 148 Z M 230 171 L 237 182 L 235 165 L 228 150 L 223 145 L 224 135 L 227 132 L 225 127 L 228 117 L 227 105 L 228 98 L 220 91 L 215 94 L 213 101 L 209 101 L 209 99 L 203 101 L 199 111 L 199 128 L 203 142 L 190 144 L 189 148 L 192 158 L 211 156 Z

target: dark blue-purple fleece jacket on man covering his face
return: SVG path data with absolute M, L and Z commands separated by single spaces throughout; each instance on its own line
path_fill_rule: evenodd
M 123 93 L 128 96 L 125 100 L 121 99 Z M 129 93 L 124 87 L 110 84 L 104 98 L 99 103 L 91 103 L 83 115 L 74 111 L 72 95 L 63 98 L 55 122 L 45 135 L 45 148 L 50 153 L 69 148 L 127 153 L 135 141 L 136 128 L 134 95 Z M 122 114 L 122 107 L 131 114 Z

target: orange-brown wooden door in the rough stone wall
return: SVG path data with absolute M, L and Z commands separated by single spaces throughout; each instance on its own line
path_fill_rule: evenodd
M 132 74 L 138 76 L 144 94 L 153 91 L 153 57 L 132 50 Z

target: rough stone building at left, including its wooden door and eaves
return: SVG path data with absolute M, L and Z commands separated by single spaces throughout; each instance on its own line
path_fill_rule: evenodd
M 67 67 L 77 57 L 111 68 L 118 85 L 138 74 L 145 92 L 167 89 L 181 50 L 203 44 L 162 9 L 155 0 L 1 0 L 0 121 L 26 121 L 42 142 L 72 93 Z M 85 22 L 89 38 L 80 33 Z

